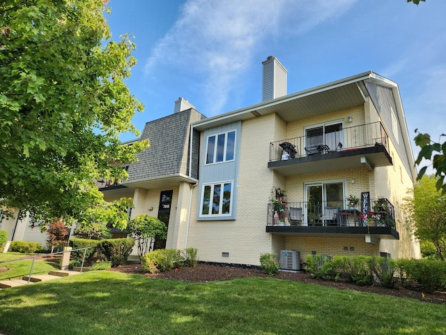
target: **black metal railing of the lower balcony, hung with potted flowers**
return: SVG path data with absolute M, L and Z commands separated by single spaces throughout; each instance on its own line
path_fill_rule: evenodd
M 372 199 L 371 208 L 349 207 L 346 200 L 270 202 L 267 225 L 395 228 L 394 206 L 386 198 Z

